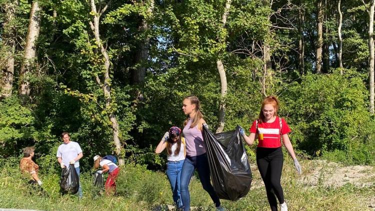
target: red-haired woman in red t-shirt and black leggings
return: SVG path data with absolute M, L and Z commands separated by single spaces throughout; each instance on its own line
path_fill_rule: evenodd
M 243 129 L 240 129 L 239 132 L 248 145 L 254 143 L 257 135 L 256 164 L 264 182 L 268 203 L 272 211 L 277 211 L 277 197 L 281 211 L 287 211 L 280 184 L 283 164 L 281 137 L 286 150 L 294 160 L 295 169 L 299 174 L 302 170 L 287 134 L 290 132 L 290 128 L 284 119 L 277 116 L 278 108 L 277 98 L 267 96 L 261 103 L 259 118 L 252 122 L 250 134 L 246 136 Z

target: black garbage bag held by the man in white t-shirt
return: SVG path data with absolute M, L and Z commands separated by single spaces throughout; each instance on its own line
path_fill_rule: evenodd
M 74 194 L 78 191 L 78 187 L 79 178 L 74 164 L 69 164 L 69 166 L 62 168 L 60 177 L 60 190 L 62 194 Z

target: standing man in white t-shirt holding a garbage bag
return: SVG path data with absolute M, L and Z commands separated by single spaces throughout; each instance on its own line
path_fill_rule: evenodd
M 79 179 L 79 159 L 83 156 L 82 149 L 77 142 L 70 141 L 69 133 L 61 133 L 61 138 L 64 142 L 57 148 L 57 161 L 60 163 L 61 168 L 64 168 L 69 164 L 74 164 Z M 81 198 L 82 195 L 82 188 L 79 182 L 78 197 Z

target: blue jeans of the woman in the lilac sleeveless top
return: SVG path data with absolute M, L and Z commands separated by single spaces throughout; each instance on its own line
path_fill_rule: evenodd
M 208 192 L 215 206 L 220 205 L 220 199 L 218 198 L 216 192 L 214 191 L 210 178 L 209 178 L 209 166 L 206 153 L 198 156 L 187 156 L 182 165 L 181 170 L 181 198 L 183 203 L 183 210 L 190 210 L 190 193 L 189 193 L 189 183 L 195 168 L 198 171 L 200 183 L 205 191 Z

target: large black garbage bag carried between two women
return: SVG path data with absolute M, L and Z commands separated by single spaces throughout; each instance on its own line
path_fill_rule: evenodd
M 239 128 L 213 134 L 203 125 L 202 130 L 213 188 L 219 198 L 232 201 L 248 193 L 252 180 Z

